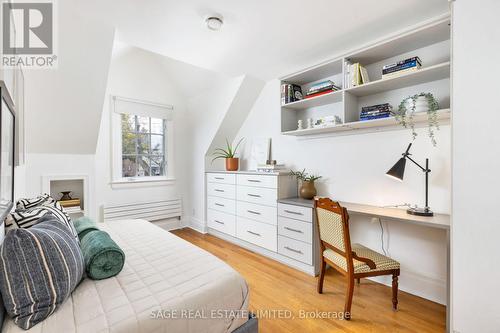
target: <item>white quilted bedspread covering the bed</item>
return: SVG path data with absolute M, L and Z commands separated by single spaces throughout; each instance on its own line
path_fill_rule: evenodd
M 217 257 L 147 221 L 99 227 L 125 252 L 123 271 L 106 280 L 84 279 L 29 332 L 231 332 L 246 321 L 220 316 L 225 311 L 211 318 L 212 310 L 248 309 L 245 280 Z M 165 319 L 169 315 L 178 319 Z M 26 331 L 7 318 L 2 332 Z

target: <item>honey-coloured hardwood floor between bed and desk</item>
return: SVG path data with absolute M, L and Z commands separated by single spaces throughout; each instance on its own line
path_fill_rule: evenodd
M 316 292 L 316 278 L 305 273 L 192 229 L 173 233 L 237 270 L 250 286 L 250 310 L 288 310 L 290 312 L 283 312 L 285 317 L 288 313 L 295 317 L 259 318 L 261 333 L 445 331 L 444 306 L 400 292 L 399 310 L 393 312 L 391 289 L 366 279 L 354 288 L 352 319 L 339 320 L 335 313 L 343 310 L 346 283 L 334 270 L 327 270 L 323 294 L 320 295 Z M 330 318 L 302 319 L 301 310 L 330 312 Z

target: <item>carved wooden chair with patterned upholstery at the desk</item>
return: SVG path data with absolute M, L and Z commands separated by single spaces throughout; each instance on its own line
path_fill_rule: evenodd
M 392 307 L 398 306 L 399 263 L 360 244 L 352 244 L 349 237 L 349 215 L 338 202 L 328 198 L 315 199 L 314 211 L 318 226 L 321 271 L 318 293 L 323 293 L 325 266 L 328 263 L 347 277 L 344 318 L 351 318 L 354 279 L 369 276 L 392 275 Z

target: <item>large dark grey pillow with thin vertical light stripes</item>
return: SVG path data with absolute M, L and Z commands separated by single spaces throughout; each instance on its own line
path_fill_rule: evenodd
M 0 249 L 0 291 L 14 323 L 29 329 L 49 317 L 81 281 L 78 242 L 52 214 L 7 233 Z

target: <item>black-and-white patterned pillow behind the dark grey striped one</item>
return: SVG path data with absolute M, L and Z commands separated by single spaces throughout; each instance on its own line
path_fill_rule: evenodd
M 28 209 L 17 209 L 15 212 L 10 213 L 5 218 L 5 230 L 18 229 L 18 228 L 29 228 L 38 223 L 38 220 L 45 216 L 46 214 L 51 213 L 56 218 L 59 219 L 64 225 L 66 225 L 71 234 L 78 241 L 78 233 L 73 226 L 73 222 L 71 222 L 71 218 L 64 211 L 64 208 L 61 207 L 61 204 L 57 201 L 46 202 L 42 205 L 35 206 Z

